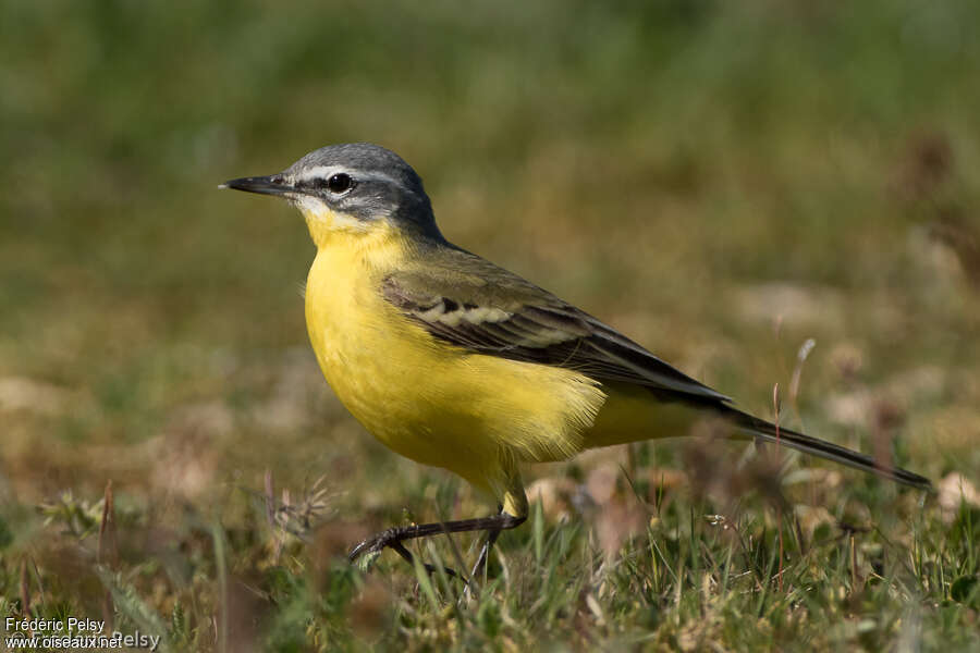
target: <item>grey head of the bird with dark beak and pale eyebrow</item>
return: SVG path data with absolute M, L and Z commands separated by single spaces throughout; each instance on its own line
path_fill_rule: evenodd
M 441 238 L 421 178 L 396 153 L 370 143 L 321 147 L 283 172 L 222 187 L 284 197 L 307 222 L 329 221 L 328 229 L 367 232 L 383 220 Z

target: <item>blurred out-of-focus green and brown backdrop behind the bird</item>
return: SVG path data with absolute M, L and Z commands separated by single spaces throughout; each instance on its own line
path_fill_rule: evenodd
M 795 426 L 977 479 L 977 25 L 965 1 L 0 3 L 8 562 L 58 546 L 28 506 L 109 478 L 171 530 L 234 521 L 267 469 L 373 526 L 433 516 L 433 483 L 486 509 L 346 416 L 302 221 L 217 188 L 355 140 L 416 168 L 451 241 L 742 406 L 771 415 L 813 338 Z

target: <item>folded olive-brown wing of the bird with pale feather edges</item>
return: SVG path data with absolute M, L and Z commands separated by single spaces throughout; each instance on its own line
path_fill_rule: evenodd
M 653 356 L 615 329 L 516 274 L 460 249 L 384 278 L 381 293 L 432 336 L 469 352 L 576 370 L 649 387 L 666 398 L 724 405 L 728 397 Z

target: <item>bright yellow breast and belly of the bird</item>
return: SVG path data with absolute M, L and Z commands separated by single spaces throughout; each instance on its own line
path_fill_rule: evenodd
M 581 451 L 605 395 L 571 370 L 467 354 L 381 297 L 396 243 L 321 244 L 306 286 L 310 342 L 327 381 L 393 451 L 500 491 L 520 460 Z

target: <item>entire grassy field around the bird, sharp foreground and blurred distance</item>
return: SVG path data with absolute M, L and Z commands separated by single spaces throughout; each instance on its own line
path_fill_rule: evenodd
M 0 616 L 174 651 L 980 649 L 978 20 L 4 3 Z M 529 469 L 470 601 L 389 553 L 351 567 L 375 530 L 490 503 L 346 415 L 302 224 L 215 189 L 350 140 L 412 162 L 460 245 L 940 492 L 644 443 Z

